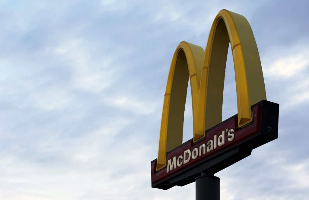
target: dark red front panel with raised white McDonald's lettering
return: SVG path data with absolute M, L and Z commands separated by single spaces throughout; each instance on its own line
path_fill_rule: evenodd
M 237 116 L 222 122 L 218 126 L 208 130 L 206 137 L 193 143 L 189 140 L 179 147 L 167 153 L 167 166 L 160 171 L 156 171 L 156 160 L 151 162 L 151 182 L 166 179 L 178 172 L 184 171 L 190 166 L 218 154 L 220 151 L 229 148 L 242 140 L 251 137 L 260 130 L 260 104 L 252 108 L 253 122 L 238 129 Z

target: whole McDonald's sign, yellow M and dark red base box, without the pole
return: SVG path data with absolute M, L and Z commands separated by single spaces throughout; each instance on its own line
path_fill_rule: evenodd
M 233 54 L 238 114 L 222 121 L 223 85 L 229 44 Z M 190 80 L 193 138 L 182 142 Z M 277 138 L 279 104 L 266 100 L 260 56 L 247 19 L 221 10 L 207 46 L 180 42 L 164 95 L 158 158 L 151 161 L 152 187 L 169 189 L 216 173 Z

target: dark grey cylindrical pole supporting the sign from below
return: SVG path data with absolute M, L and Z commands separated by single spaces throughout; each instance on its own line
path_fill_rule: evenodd
M 195 199 L 220 200 L 220 178 L 201 172 L 201 176 L 195 178 Z

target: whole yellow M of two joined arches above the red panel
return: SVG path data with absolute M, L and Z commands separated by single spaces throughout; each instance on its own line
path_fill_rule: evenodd
M 231 43 L 237 92 L 238 126 L 252 121 L 251 106 L 266 100 L 260 56 L 247 19 L 221 10 L 212 24 L 207 46 L 181 42 L 172 59 L 164 95 L 157 170 L 166 166 L 166 153 L 182 144 L 184 106 L 190 78 L 193 142 L 222 121 L 226 57 Z

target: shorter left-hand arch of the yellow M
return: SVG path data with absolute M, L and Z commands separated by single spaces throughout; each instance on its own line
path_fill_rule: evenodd
M 184 106 L 190 77 L 193 116 L 197 113 L 199 80 L 204 50 L 197 45 L 180 42 L 167 78 L 159 139 L 157 169 L 165 167 L 166 152 L 182 144 Z M 193 117 L 195 124 L 195 117 Z

